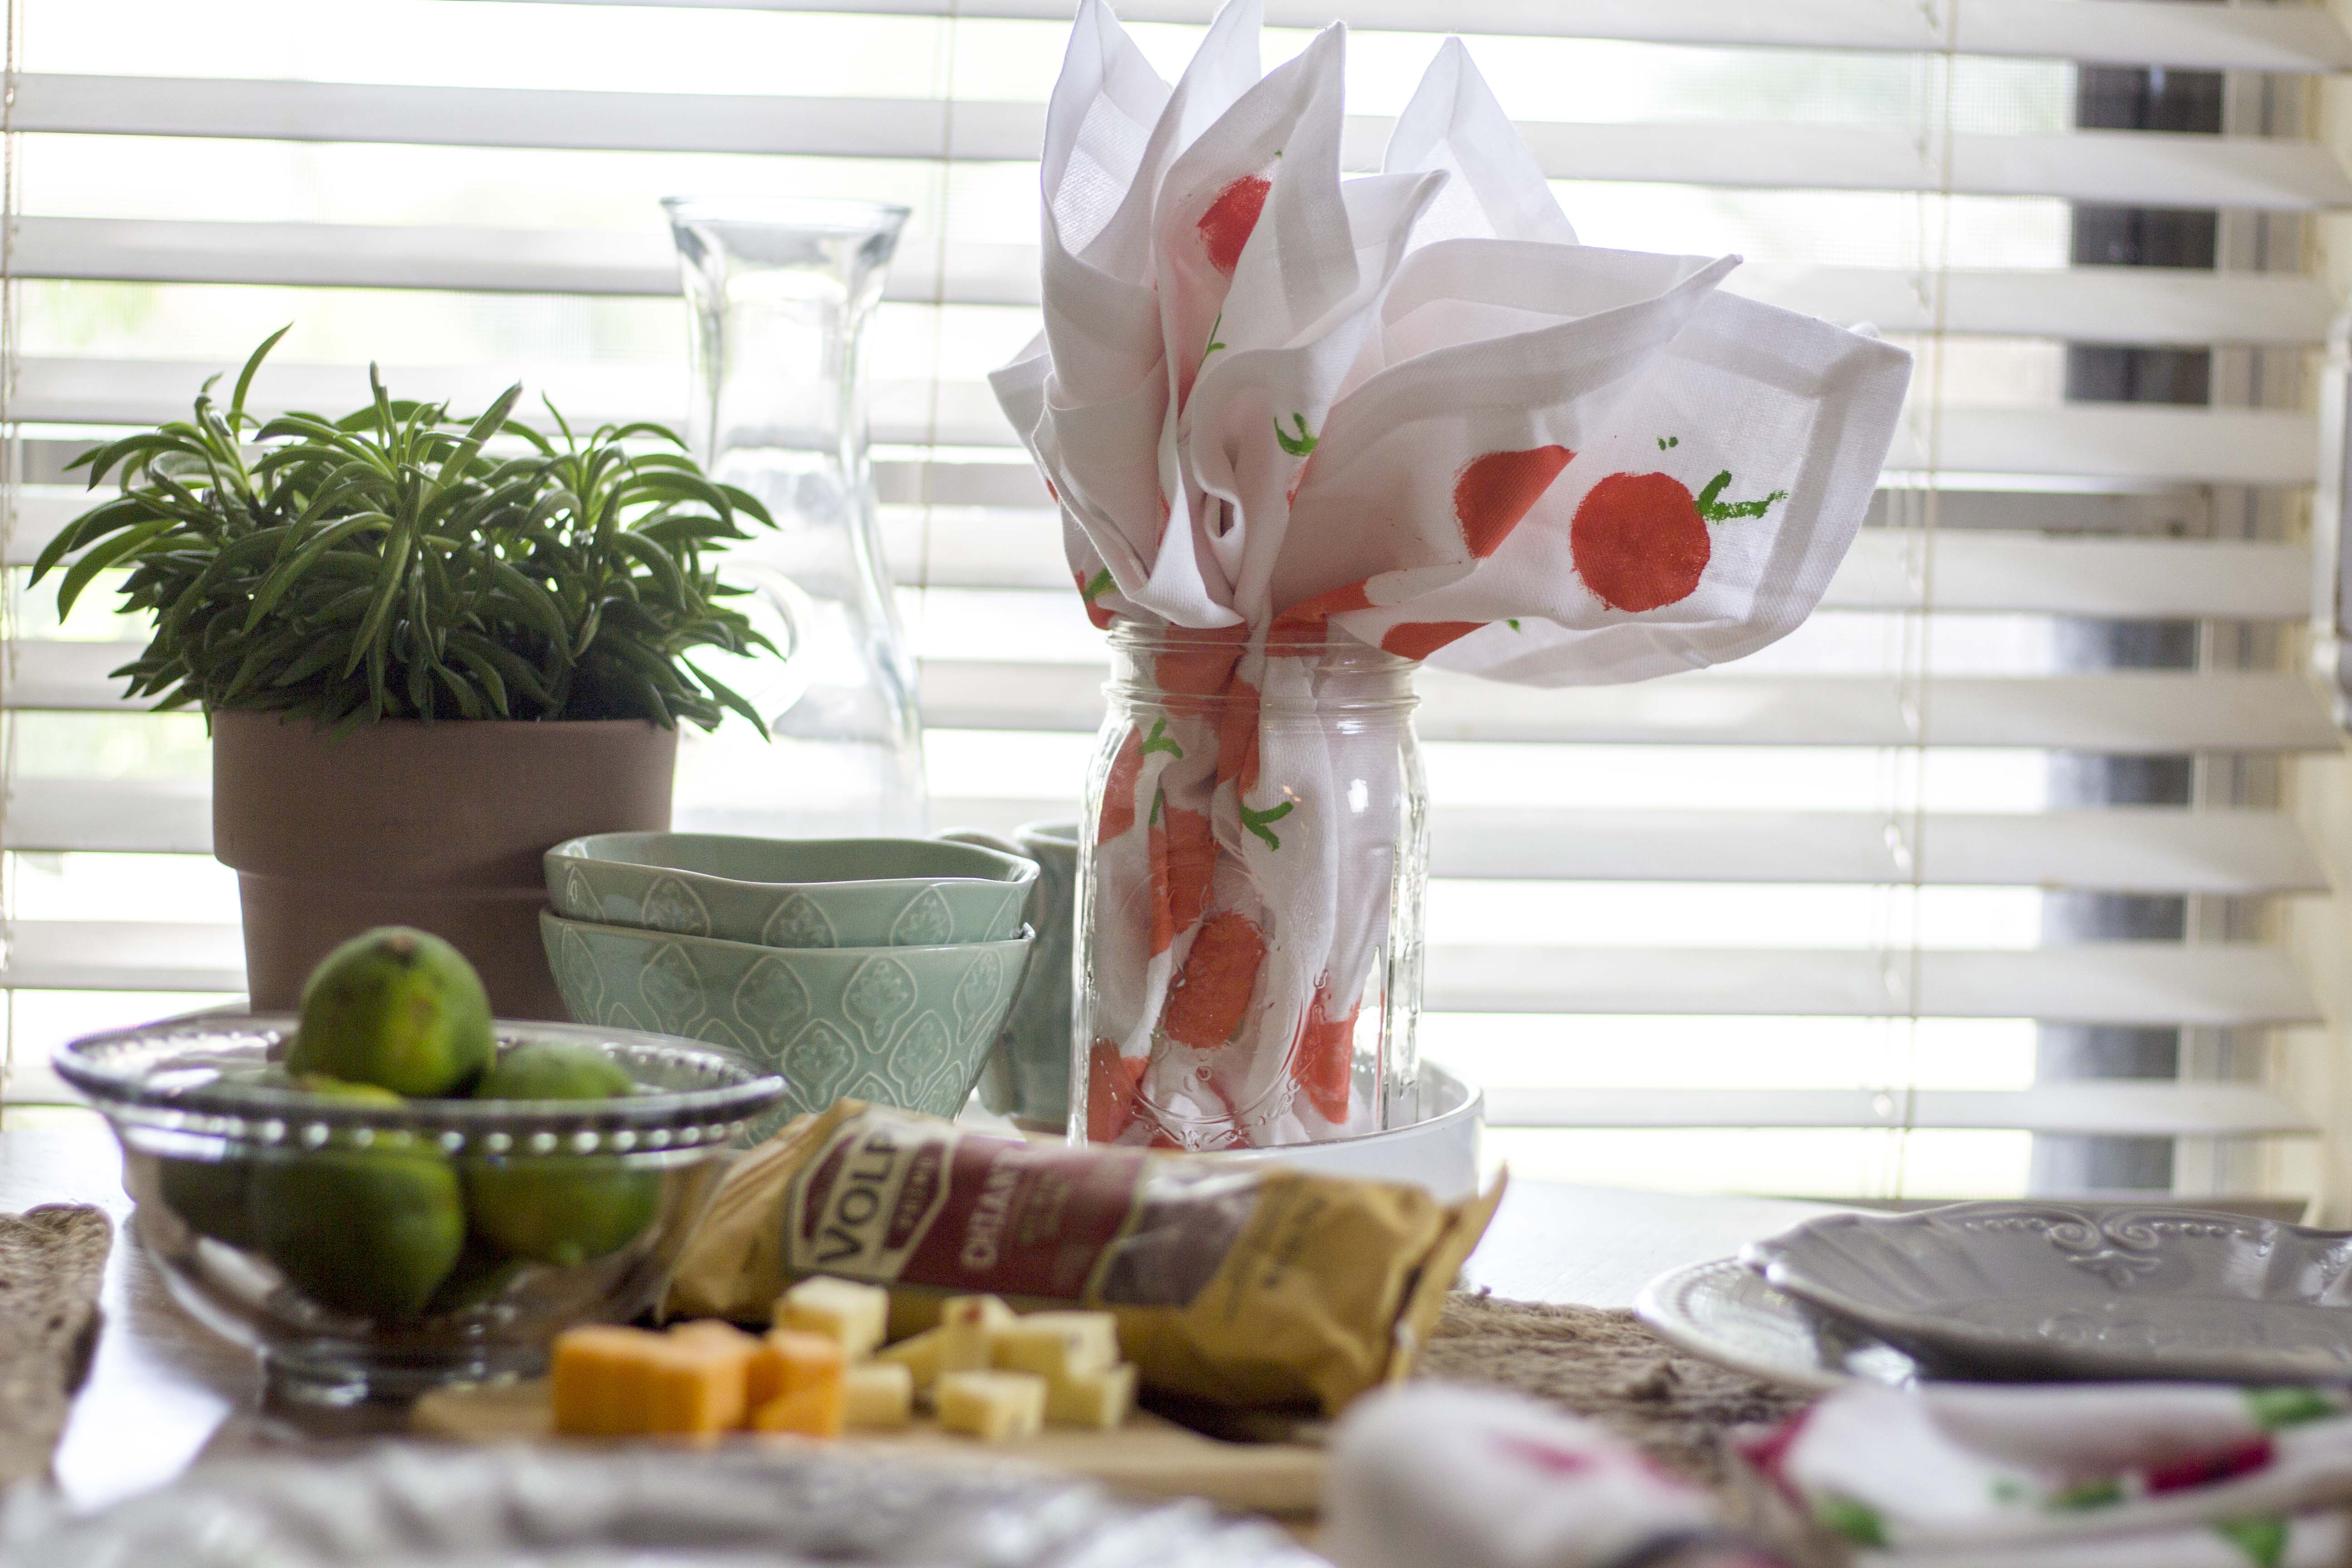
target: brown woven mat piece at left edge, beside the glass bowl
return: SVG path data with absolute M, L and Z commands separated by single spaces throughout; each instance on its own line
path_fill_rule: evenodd
M 99 1338 L 113 1234 L 85 1204 L 0 1215 L 0 1483 L 49 1469 Z

